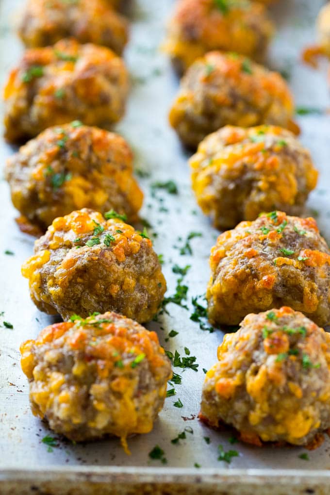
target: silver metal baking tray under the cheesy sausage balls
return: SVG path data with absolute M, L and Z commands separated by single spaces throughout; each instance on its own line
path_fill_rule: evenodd
M 302 47 L 315 40 L 316 15 L 321 0 L 280 0 L 271 9 L 278 32 L 270 49 L 268 64 L 289 72 L 290 85 L 300 107 L 326 110 L 329 94 L 327 64 L 313 71 L 299 62 Z M 14 24 L 22 0 L 0 0 L 0 84 L 23 50 L 15 36 Z M 169 314 L 160 317 L 155 329 L 161 343 L 184 355 L 189 347 L 196 356 L 198 371 L 174 371 L 182 377 L 175 385 L 176 396 L 165 407 L 148 435 L 129 439 L 132 455 L 124 453 L 118 439 L 73 445 L 62 439 L 51 450 L 42 442 L 52 435 L 47 425 L 35 418 L 29 406 L 28 383 L 20 369 L 19 345 L 54 320 L 40 313 L 30 301 L 28 283 L 20 274 L 22 262 L 32 253 L 33 239 L 20 233 L 14 218 L 6 183 L 0 181 L 0 493 L 1 494 L 330 494 L 330 441 L 309 453 L 309 461 L 299 455 L 301 448 L 262 448 L 229 443 L 229 432 L 214 432 L 202 425 L 199 411 L 203 368 L 216 361 L 223 332 L 201 331 L 189 319 L 191 298 L 205 293 L 209 278 L 208 256 L 217 232 L 195 204 L 189 184 L 185 152 L 170 129 L 167 113 L 178 88 L 178 79 L 166 56 L 159 50 L 165 21 L 174 1 L 136 0 L 131 20 L 131 41 L 125 58 L 132 75 L 132 93 L 127 114 L 116 127 L 135 152 L 135 166 L 145 193 L 141 216 L 153 226 L 154 247 L 164 256 L 168 295 L 175 292 L 178 278 L 172 266 L 191 265 L 185 284 L 189 286 L 186 310 L 168 304 Z M 298 117 L 301 141 L 310 148 L 321 172 L 319 186 L 311 194 L 308 207 L 318 215 L 323 234 L 330 240 L 330 118 L 324 114 Z M 2 130 L 0 132 L 2 135 Z M 2 164 L 13 149 L 0 138 Z M 157 190 L 155 181 L 173 180 L 179 194 Z M 192 254 L 180 254 L 190 232 Z M 14 255 L 5 255 L 5 250 Z M 3 319 L 13 325 L 5 328 Z M 174 329 L 179 334 L 170 338 Z M 178 400 L 182 408 L 174 407 Z M 171 440 L 186 429 L 186 440 Z M 192 433 L 193 432 L 193 433 Z M 53 436 L 53 435 L 52 435 Z M 57 438 L 57 436 L 55 436 Z M 209 437 L 207 444 L 203 437 Z M 219 444 L 235 448 L 239 456 L 230 464 L 218 461 Z M 152 460 L 150 450 L 159 445 L 167 463 Z M 195 463 L 201 467 L 195 467 Z

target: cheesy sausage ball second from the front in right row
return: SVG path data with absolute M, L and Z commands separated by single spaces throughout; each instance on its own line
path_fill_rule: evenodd
M 314 218 L 272 211 L 241 222 L 218 237 L 210 264 L 213 324 L 238 325 L 248 313 L 282 305 L 318 325 L 330 322 L 330 249 Z

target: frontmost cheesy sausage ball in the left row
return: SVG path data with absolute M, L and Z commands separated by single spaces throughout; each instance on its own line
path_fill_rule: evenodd
M 155 332 L 116 313 L 46 327 L 21 345 L 36 416 L 72 441 L 148 433 L 162 409 L 171 363 Z

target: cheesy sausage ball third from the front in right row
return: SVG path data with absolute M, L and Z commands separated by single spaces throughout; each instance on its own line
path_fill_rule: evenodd
M 219 229 L 273 209 L 300 215 L 318 176 L 307 149 L 274 126 L 223 127 L 200 143 L 190 166 L 197 202 Z

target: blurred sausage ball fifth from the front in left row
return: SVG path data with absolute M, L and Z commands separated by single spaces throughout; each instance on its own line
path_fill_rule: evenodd
M 128 39 L 126 19 L 104 0 L 28 0 L 18 29 L 27 47 L 53 45 L 73 36 L 121 54 Z

